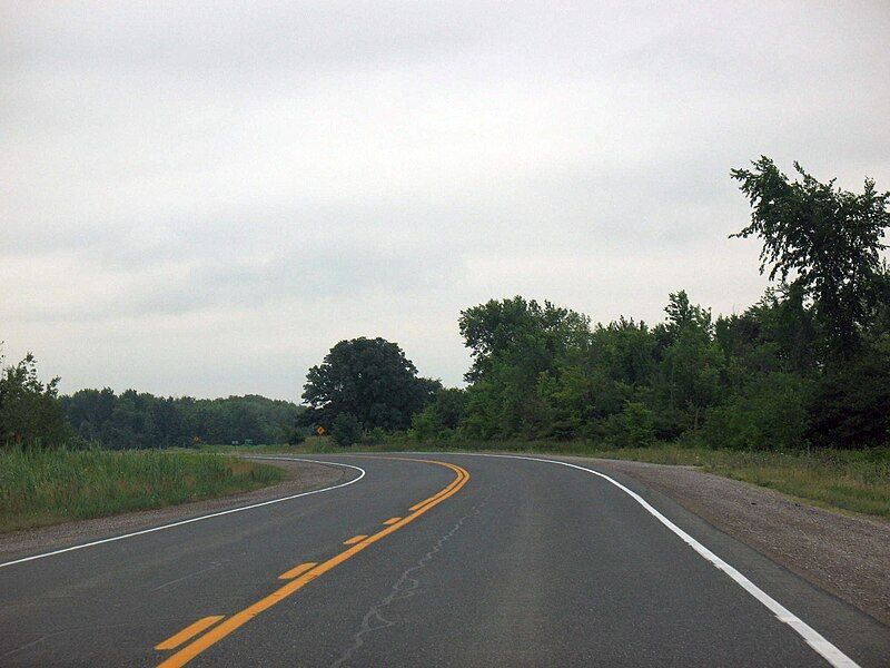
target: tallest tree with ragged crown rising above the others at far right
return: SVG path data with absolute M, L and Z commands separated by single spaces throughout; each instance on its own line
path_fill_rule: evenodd
M 800 180 L 792 181 L 765 156 L 752 165 L 731 171 L 753 207 L 751 224 L 733 236 L 763 240 L 761 273 L 770 267 L 770 279 L 789 282 L 812 302 L 829 361 L 850 358 L 879 298 L 890 193 L 878 193 L 869 178 L 861 195 L 841 190 L 798 163 Z

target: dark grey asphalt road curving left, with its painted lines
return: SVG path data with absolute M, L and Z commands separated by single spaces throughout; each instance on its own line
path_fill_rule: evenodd
M 887 627 L 631 480 L 392 458 L 0 566 L 0 665 L 890 666 Z

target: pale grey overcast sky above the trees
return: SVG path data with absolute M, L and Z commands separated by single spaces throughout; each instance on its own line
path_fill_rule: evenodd
M 890 3 L 0 2 L 0 340 L 62 390 L 296 400 L 462 308 L 762 293 L 761 154 L 890 189 Z

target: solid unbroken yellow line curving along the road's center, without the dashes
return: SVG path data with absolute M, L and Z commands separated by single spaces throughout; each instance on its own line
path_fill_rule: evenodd
M 209 631 L 207 631 L 204 636 L 199 636 L 197 639 L 192 640 L 189 645 L 186 645 L 182 649 L 177 651 L 175 655 L 168 657 L 165 661 L 161 661 L 158 665 L 158 668 L 179 668 L 180 666 L 185 666 L 191 659 L 197 657 L 208 647 L 211 647 L 219 642 L 222 638 L 231 633 L 233 631 L 237 630 L 238 628 L 243 627 L 245 623 L 254 619 L 260 612 L 268 610 L 276 603 L 285 600 L 287 597 L 291 596 L 304 586 L 308 584 L 316 578 L 325 574 L 327 571 L 332 570 L 333 568 L 339 566 L 347 559 L 358 554 L 365 548 L 370 547 L 373 543 L 377 542 L 378 540 L 383 540 L 390 533 L 395 533 L 406 524 L 409 524 L 431 508 L 438 505 L 446 499 L 453 497 L 461 488 L 463 488 L 467 481 L 469 480 L 469 473 L 466 469 L 458 466 L 456 464 L 451 464 L 448 462 L 441 462 L 437 460 L 419 460 L 419 459 L 407 459 L 407 458 L 388 458 L 394 459 L 397 461 L 412 461 L 412 462 L 423 462 L 427 464 L 438 464 L 439 466 L 445 466 L 446 469 L 451 469 L 454 471 L 457 477 L 455 478 L 454 482 L 452 482 L 448 487 L 446 487 L 441 492 L 434 494 L 429 499 L 422 501 L 417 510 L 412 512 L 409 515 L 406 515 L 398 520 L 397 522 L 388 525 L 386 529 L 382 529 L 377 533 L 367 537 L 362 542 L 355 543 L 354 546 L 349 547 L 348 549 L 344 550 L 339 554 L 336 554 L 319 563 L 318 566 L 309 569 L 301 576 L 290 580 L 287 584 L 276 589 L 270 595 L 261 598 L 257 602 L 248 606 L 244 610 L 236 612 L 218 626 L 214 627 Z

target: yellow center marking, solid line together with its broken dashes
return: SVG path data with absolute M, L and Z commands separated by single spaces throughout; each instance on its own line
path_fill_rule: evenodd
M 424 463 L 429 463 L 429 464 L 437 464 L 439 466 L 445 466 L 447 469 L 451 469 L 457 475 L 454 479 L 454 481 L 452 481 L 452 483 L 448 484 L 448 487 L 446 487 L 443 490 L 438 491 L 437 493 L 433 494 L 428 499 L 424 499 L 419 503 L 415 503 L 414 505 L 412 505 L 409 508 L 411 514 L 407 514 L 404 518 L 392 518 L 392 519 L 387 520 L 385 522 L 386 528 L 382 529 L 377 533 L 374 533 L 374 534 L 367 536 L 367 537 L 357 537 L 357 538 L 359 538 L 359 540 L 356 541 L 356 542 L 353 542 L 352 540 L 347 541 L 347 543 L 350 543 L 348 549 L 344 550 L 339 554 L 336 554 L 335 557 L 332 557 L 327 561 L 323 561 L 322 563 L 317 563 L 317 564 L 312 564 L 312 568 L 309 568 L 308 570 L 304 571 L 303 568 L 301 568 L 301 567 L 305 567 L 305 566 L 308 566 L 308 564 L 300 564 L 299 567 L 290 569 L 290 571 L 285 573 L 286 576 L 289 576 L 290 573 L 294 573 L 295 571 L 300 573 L 300 574 L 295 577 L 287 584 L 284 584 L 283 587 L 276 589 L 270 595 L 259 599 L 258 601 L 256 601 L 255 603 L 248 606 L 247 608 L 245 608 L 240 612 L 236 612 L 235 615 L 233 615 L 231 617 L 229 617 L 228 619 L 226 619 L 225 621 L 222 621 L 218 626 L 215 626 L 209 631 L 207 631 L 204 636 L 199 636 L 196 640 L 192 640 L 189 645 L 186 645 L 182 649 L 177 651 L 175 655 L 171 655 L 165 661 L 159 664 L 159 668 L 175 668 L 175 667 L 179 667 L 179 666 L 185 666 L 188 661 L 190 661 L 191 659 L 197 657 L 199 654 L 201 654 L 208 647 L 211 647 L 212 645 L 216 645 L 222 638 L 225 638 L 229 633 L 234 632 L 238 628 L 243 627 L 245 623 L 247 623 L 248 621 L 254 619 L 254 617 L 256 617 L 260 612 L 263 612 L 265 610 L 268 610 L 269 608 L 271 608 L 276 603 L 283 601 L 287 597 L 289 597 L 293 593 L 295 593 L 296 591 L 298 591 L 299 589 L 303 589 L 303 587 L 305 587 L 306 584 L 308 584 L 309 582 L 312 582 L 316 578 L 325 574 L 327 571 L 329 571 L 334 567 L 343 563 L 344 561 L 346 561 L 347 559 L 349 559 L 352 557 L 355 557 L 356 554 L 358 554 L 358 552 L 360 552 L 365 548 L 374 544 L 378 540 L 382 540 L 382 539 L 386 538 L 390 533 L 395 533 L 396 531 L 398 531 L 399 529 L 402 529 L 406 524 L 409 524 L 411 522 L 416 520 L 418 517 L 424 514 L 431 508 L 434 508 L 435 505 L 438 505 L 439 503 L 442 503 L 446 499 L 453 497 L 469 480 L 469 473 L 466 471 L 466 469 L 463 469 L 462 466 L 457 466 L 455 464 L 451 464 L 448 462 L 439 462 L 439 461 L 435 461 L 435 460 L 403 459 L 403 458 L 388 458 L 388 459 L 397 459 L 398 461 L 413 461 L 413 462 L 424 462 Z M 198 620 L 198 622 L 195 622 L 195 623 L 190 625 L 189 627 L 186 627 L 185 629 L 182 629 L 181 631 L 179 631 L 178 633 L 176 633 L 175 636 L 172 636 L 168 640 L 165 640 L 164 642 L 158 645 L 156 647 L 156 649 L 171 649 L 174 647 L 178 647 L 186 639 L 191 638 L 197 633 L 200 633 L 204 629 L 206 629 L 209 626 L 212 626 L 219 619 L 222 619 L 222 618 L 221 617 L 214 617 L 214 618 L 207 617 L 207 618 L 204 618 L 201 620 Z

